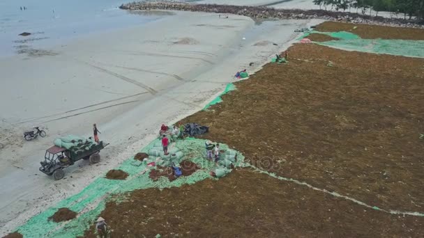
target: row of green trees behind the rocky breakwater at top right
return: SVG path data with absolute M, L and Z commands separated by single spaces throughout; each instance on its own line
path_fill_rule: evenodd
M 404 19 L 424 19 L 424 0 L 314 0 L 314 3 L 325 10 L 351 10 L 356 8 L 356 13 L 363 15 L 371 15 L 371 11 L 379 12 L 385 11 L 395 15 L 403 14 Z

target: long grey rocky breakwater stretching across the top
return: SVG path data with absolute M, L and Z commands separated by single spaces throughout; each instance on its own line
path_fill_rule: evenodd
M 359 15 L 357 13 L 341 13 L 326 10 L 275 9 L 265 6 L 194 4 L 176 1 L 132 2 L 123 4 L 119 8 L 124 10 L 181 10 L 203 13 L 221 13 L 243 15 L 255 19 L 324 19 L 337 22 L 424 28 L 424 22 L 410 22 L 404 19 L 389 19 Z

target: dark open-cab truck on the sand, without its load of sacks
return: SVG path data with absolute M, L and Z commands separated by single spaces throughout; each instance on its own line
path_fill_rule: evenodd
M 100 141 L 100 143 L 92 146 L 89 150 L 78 153 L 53 145 L 45 151 L 45 160 L 40 162 L 40 171 L 52 176 L 54 180 L 61 180 L 65 176 L 63 168 L 72 166 L 79 159 L 89 159 L 91 164 L 100 162 L 99 152 L 107 145 L 109 144 L 103 144 L 103 141 Z

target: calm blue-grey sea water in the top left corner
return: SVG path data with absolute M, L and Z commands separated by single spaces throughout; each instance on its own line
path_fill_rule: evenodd
M 0 56 L 66 44 L 81 35 L 151 22 L 118 7 L 127 0 L 0 0 Z M 29 32 L 31 35 L 21 36 Z

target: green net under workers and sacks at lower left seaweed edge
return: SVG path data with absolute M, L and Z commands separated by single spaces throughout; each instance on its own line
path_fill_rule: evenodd
M 141 152 L 149 152 L 154 148 L 158 149 L 158 141 L 152 141 Z M 156 150 L 155 149 L 155 150 Z M 220 144 L 220 150 L 224 151 L 220 154 L 222 159 L 233 159 L 234 166 L 246 166 L 243 162 L 244 157 L 239 152 L 231 150 L 225 144 Z M 124 161 L 118 168 L 128 173 L 126 180 L 108 180 L 105 177 L 99 177 L 89 186 L 65 200 L 50 207 L 45 212 L 33 216 L 27 223 L 17 228 L 24 237 L 78 237 L 84 234 L 84 230 L 88 229 L 97 219 L 100 212 L 105 209 L 105 204 L 112 199 L 111 195 L 134 191 L 135 189 L 158 188 L 164 189 L 168 187 L 181 187 L 183 184 L 194 184 L 201 180 L 212 178 L 211 171 L 217 177 L 225 176 L 231 171 L 223 166 L 216 166 L 213 161 L 206 158 L 205 141 L 197 138 L 185 138 L 178 140 L 169 145 L 169 151 L 178 154 L 178 156 L 170 153 L 167 158 L 162 158 L 156 154 L 149 154 L 146 161 L 137 166 L 134 165 L 134 159 L 130 158 Z M 235 159 L 236 158 L 236 159 Z M 176 180 L 169 182 L 166 177 L 160 177 L 156 182 L 151 180 L 149 173 L 155 166 L 149 166 L 151 163 L 160 164 L 179 164 L 184 159 L 188 159 L 197 166 L 199 170 L 188 177 L 181 176 Z M 119 199 L 119 198 L 114 198 Z M 78 216 L 70 221 L 62 223 L 54 223 L 48 218 L 61 207 L 68 207 Z

